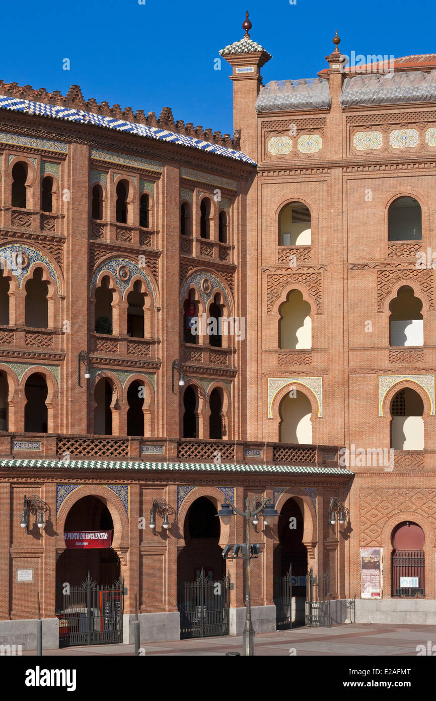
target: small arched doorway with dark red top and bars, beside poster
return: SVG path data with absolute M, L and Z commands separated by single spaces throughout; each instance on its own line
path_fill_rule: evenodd
M 419 599 L 426 596 L 426 536 L 419 524 L 403 521 L 392 531 L 392 597 Z

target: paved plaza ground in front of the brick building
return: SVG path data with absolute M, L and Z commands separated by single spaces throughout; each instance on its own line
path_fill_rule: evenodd
M 255 637 L 255 655 L 358 655 L 408 657 L 417 655 L 417 646 L 436 645 L 435 625 L 390 625 L 354 623 L 331 628 L 297 628 Z M 225 655 L 241 652 L 241 637 L 195 638 L 141 645 L 145 655 Z M 436 648 L 435 648 L 436 650 Z M 34 655 L 28 651 L 23 655 Z M 133 655 L 133 645 L 95 645 L 45 651 L 44 655 Z

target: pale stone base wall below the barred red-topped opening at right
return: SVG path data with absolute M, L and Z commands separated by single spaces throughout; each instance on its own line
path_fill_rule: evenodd
M 436 599 L 356 599 L 356 623 L 436 624 Z

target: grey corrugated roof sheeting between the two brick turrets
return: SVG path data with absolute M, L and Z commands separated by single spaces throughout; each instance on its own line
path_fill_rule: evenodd
M 294 109 L 328 109 L 332 104 L 328 81 L 301 78 L 269 81 L 260 88 L 255 104 L 257 112 L 284 112 Z

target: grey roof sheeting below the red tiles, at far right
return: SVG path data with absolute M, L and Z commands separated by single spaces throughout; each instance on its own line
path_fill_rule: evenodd
M 341 107 L 436 101 L 436 71 L 365 74 L 346 78 L 339 96 Z

